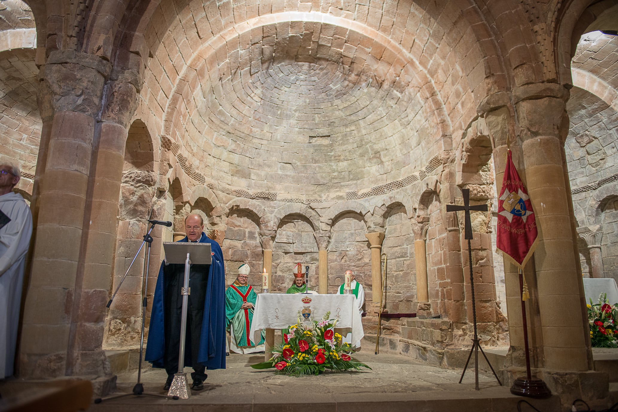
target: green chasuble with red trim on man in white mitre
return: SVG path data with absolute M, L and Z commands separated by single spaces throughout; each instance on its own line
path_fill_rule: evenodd
M 249 285 L 243 286 L 234 282 L 226 290 L 226 326 L 234 329 L 237 347 L 257 346 L 249 337 L 251 322 L 253 321 L 253 309 L 240 309 L 244 302 L 253 303 L 253 306 L 255 306 L 257 298 L 258 295 Z M 262 336 L 258 345 L 263 342 L 264 336 Z

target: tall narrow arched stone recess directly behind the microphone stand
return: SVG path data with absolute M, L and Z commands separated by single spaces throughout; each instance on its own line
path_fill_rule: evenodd
M 150 134 L 141 120 L 135 120 L 129 129 L 124 154 L 112 291 L 118 287 L 143 242 L 155 196 L 154 167 Z M 106 347 L 130 348 L 140 343 L 143 257 L 142 250 L 109 309 L 104 339 Z M 157 253 L 151 256 L 150 280 L 156 279 L 158 264 Z

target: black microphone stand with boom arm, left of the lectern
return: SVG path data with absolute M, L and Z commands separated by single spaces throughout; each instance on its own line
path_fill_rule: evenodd
M 106 398 L 96 398 L 95 403 L 101 403 L 102 401 L 124 398 L 124 397 L 129 397 L 129 396 L 138 397 L 142 395 L 149 396 L 149 397 L 174 399 L 174 400 L 178 399 L 178 397 L 176 396 L 171 397 L 167 395 L 161 395 L 160 393 L 144 392 L 144 385 L 142 384 L 142 357 L 143 357 L 143 349 L 144 349 L 144 326 L 146 322 L 146 306 L 148 306 L 148 298 L 146 298 L 146 293 L 148 293 L 148 266 L 150 264 L 150 247 L 152 246 L 152 243 L 153 243 L 153 237 L 150 235 L 150 232 L 152 232 L 153 229 L 155 229 L 155 225 L 157 224 L 164 225 L 164 226 L 172 225 L 171 222 L 165 222 L 165 221 L 148 221 L 148 222 L 152 224 L 150 227 L 150 230 L 148 230 L 148 233 L 144 235 L 144 241 L 142 242 L 140 249 L 137 251 L 137 253 L 135 253 L 133 260 L 131 261 L 131 264 L 129 265 L 129 269 L 127 269 L 127 272 L 125 272 L 124 276 L 122 277 L 120 281 L 120 284 L 116 288 L 116 292 L 114 292 L 114 295 L 112 295 L 112 298 L 109 300 L 108 305 L 107 305 L 107 308 L 111 306 L 112 301 L 114 301 L 114 298 L 116 297 L 116 293 L 118 293 L 118 290 L 120 290 L 122 286 L 122 282 L 124 282 L 124 279 L 125 277 L 127 277 L 127 274 L 129 274 L 129 271 L 131 270 L 133 263 L 135 263 L 135 259 L 137 259 L 137 256 L 142 251 L 142 248 L 144 247 L 145 243 L 148 243 L 148 246 L 146 247 L 146 251 L 145 251 L 146 265 L 144 266 L 144 274 L 143 274 L 144 295 L 143 295 L 143 300 L 142 300 L 142 337 L 140 340 L 140 362 L 139 362 L 138 371 L 137 371 L 137 384 L 133 386 L 133 391 L 130 393 L 120 393 L 119 395 L 112 395 Z

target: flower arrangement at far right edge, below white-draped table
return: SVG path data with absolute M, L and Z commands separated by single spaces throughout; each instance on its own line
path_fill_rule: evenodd
M 599 295 L 599 303 L 593 304 L 590 299 L 588 308 L 588 324 L 590 324 L 590 340 L 595 348 L 618 348 L 618 305 L 607 303 L 606 293 Z

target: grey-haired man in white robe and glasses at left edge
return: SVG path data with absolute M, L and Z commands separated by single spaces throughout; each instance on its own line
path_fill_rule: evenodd
M 32 214 L 13 188 L 19 169 L 0 164 L 0 373 L 12 376 L 17 348 L 17 325 L 22 300 L 23 271 L 32 235 Z

